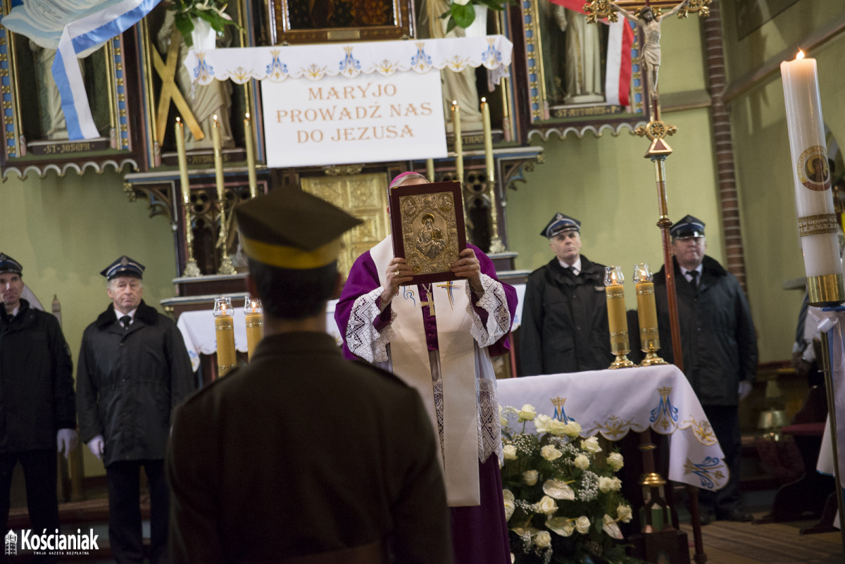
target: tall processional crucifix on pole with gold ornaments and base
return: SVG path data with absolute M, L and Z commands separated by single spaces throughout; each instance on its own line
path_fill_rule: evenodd
M 660 24 L 663 18 L 672 14 L 678 14 L 679 18 L 686 18 L 689 12 L 694 12 L 698 13 L 701 17 L 706 17 L 710 15 L 710 8 L 707 7 L 709 3 L 711 3 L 711 0 L 684 0 L 681 3 L 677 3 L 677 0 L 618 0 L 617 2 L 611 2 L 610 0 L 587 0 L 584 5 L 588 22 L 595 23 L 600 18 L 607 18 L 609 21 L 615 22 L 618 19 L 617 13 L 619 13 L 623 14 L 624 18 L 629 19 L 641 29 L 644 35 L 639 62 L 646 70 L 646 80 L 649 83 L 649 122 L 645 126 L 637 127 L 634 133 L 639 137 L 646 137 L 651 141 L 651 145 L 644 156 L 654 164 L 659 214 L 657 227 L 661 231 L 662 238 L 673 359 L 675 365 L 681 371 L 684 370 L 684 359 L 681 352 L 678 299 L 675 294 L 675 276 L 671 252 L 671 237 L 669 235 L 672 220 L 669 220 L 666 198 L 666 159 L 672 154 L 672 148 L 669 146 L 666 138 L 676 133 L 678 128 L 662 122 L 660 117 L 660 99 L 657 93 L 657 70 L 660 68 L 661 57 Z M 669 8 L 668 14 L 662 14 L 663 8 Z M 668 554 L 671 554 L 673 550 L 679 550 L 675 546 L 677 544 L 675 537 L 683 536 L 683 544 L 686 545 L 686 536 L 677 529 L 674 529 L 671 525 L 666 526 L 666 523 L 671 523 L 671 520 L 665 516 L 667 504 L 662 500 L 661 489 L 665 484 L 665 480 L 657 474 L 655 469 L 654 455 L 651 452 L 651 449 L 654 447 L 651 444 L 651 433 L 641 433 L 640 437 L 643 467 L 646 472 L 646 479 L 642 482 L 644 496 L 646 488 L 650 491 L 646 507 L 661 507 L 664 512 L 664 527 L 661 531 L 655 532 L 652 528 L 651 511 L 646 510 L 642 550 L 644 554 L 649 553 L 651 550 L 666 550 Z M 695 540 L 695 562 L 696 564 L 704 564 L 707 561 L 707 555 L 704 552 L 704 543 L 701 537 L 698 489 L 690 485 L 687 486 L 687 491 L 690 494 L 690 512 L 694 516 L 692 529 Z M 683 554 L 679 555 L 681 558 L 683 556 Z

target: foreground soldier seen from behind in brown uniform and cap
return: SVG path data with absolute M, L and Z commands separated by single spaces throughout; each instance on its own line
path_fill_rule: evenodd
M 264 306 L 249 365 L 177 409 L 167 475 L 175 562 L 450 563 L 449 512 L 417 392 L 325 333 L 344 231 L 278 188 L 235 209 Z

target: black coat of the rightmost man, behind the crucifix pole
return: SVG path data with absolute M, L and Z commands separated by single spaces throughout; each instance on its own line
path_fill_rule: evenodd
M 704 257 L 698 290 L 673 259 L 684 374 L 702 405 L 738 405 L 739 381 L 754 382 L 757 341 L 742 287 L 722 265 Z M 673 362 L 665 268 L 654 277 L 659 354 Z

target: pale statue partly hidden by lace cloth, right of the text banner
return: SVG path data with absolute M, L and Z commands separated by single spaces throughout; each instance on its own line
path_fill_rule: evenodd
M 446 33 L 447 19 L 440 15 L 449 10 L 449 0 L 422 0 L 419 3 L 418 27 L 419 35 L 423 39 L 443 39 L 444 37 L 465 37 L 465 30 L 455 26 Z M 443 84 L 443 113 L 446 119 L 446 131 L 454 131 L 452 124 L 452 101 L 461 106 L 461 131 L 479 131 L 482 129 L 481 107 L 479 106 L 478 87 L 476 84 L 476 69 L 466 67 L 460 73 L 449 69 L 440 71 L 440 81 Z

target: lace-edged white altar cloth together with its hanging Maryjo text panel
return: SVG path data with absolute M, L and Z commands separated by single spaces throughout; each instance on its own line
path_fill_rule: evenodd
M 270 168 L 447 155 L 440 72 L 509 75 L 502 35 L 190 51 L 192 80 L 261 81 Z

